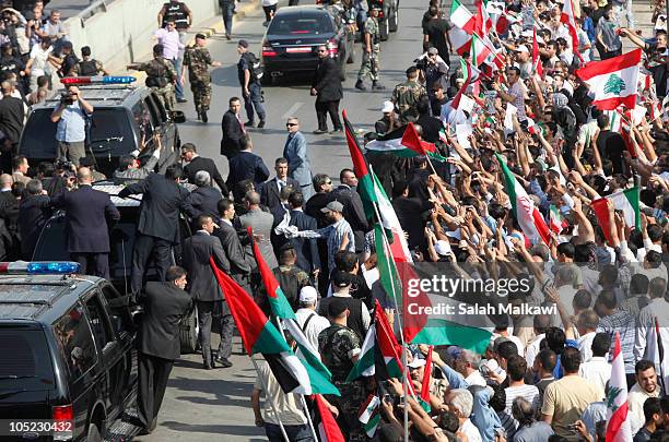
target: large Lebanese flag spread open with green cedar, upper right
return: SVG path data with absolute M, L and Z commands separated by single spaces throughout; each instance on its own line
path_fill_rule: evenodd
M 590 95 L 595 96 L 592 105 L 598 109 L 612 110 L 621 105 L 634 109 L 641 59 L 639 48 L 608 60 L 591 61 L 576 70 L 576 75 L 590 86 Z

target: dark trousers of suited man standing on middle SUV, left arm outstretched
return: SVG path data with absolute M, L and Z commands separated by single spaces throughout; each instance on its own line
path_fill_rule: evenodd
M 130 289 L 133 294 L 142 289 L 146 263 L 153 252 L 157 276 L 160 280 L 165 280 L 167 267 L 172 264 L 172 242 L 166 239 L 152 237 L 149 235 L 137 235 L 134 250 L 132 251 L 132 278 Z

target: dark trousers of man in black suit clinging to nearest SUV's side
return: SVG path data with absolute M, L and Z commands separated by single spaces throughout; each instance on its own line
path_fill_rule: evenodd
M 167 380 L 174 361 L 156 356 L 139 354 L 139 396 L 137 411 L 145 428 L 153 430 L 157 413 L 163 404 Z

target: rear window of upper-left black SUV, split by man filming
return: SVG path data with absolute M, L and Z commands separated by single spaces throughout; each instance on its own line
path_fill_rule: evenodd
M 130 118 L 122 108 L 96 108 L 91 123 L 91 148 L 95 156 L 120 156 L 134 150 Z M 51 109 L 37 109 L 25 126 L 21 153 L 28 158 L 55 158 L 56 123 Z

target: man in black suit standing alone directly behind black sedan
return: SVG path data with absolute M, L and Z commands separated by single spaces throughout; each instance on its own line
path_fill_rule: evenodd
M 318 65 L 312 82 L 312 95 L 316 96 L 316 118 L 318 129 L 316 134 L 328 131 L 328 114 L 332 120 L 332 132 L 343 132 L 339 119 L 339 100 L 343 97 L 341 88 L 341 69 L 333 58 L 330 58 L 326 46 L 318 47 Z

